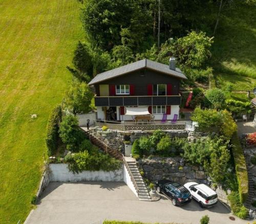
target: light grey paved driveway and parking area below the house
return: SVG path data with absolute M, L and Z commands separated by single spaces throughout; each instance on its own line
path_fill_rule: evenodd
M 210 223 L 248 223 L 231 215 L 220 203 L 210 209 L 201 209 L 192 201 L 175 207 L 163 197 L 159 201 L 139 201 L 122 182 L 52 182 L 42 195 L 40 204 L 28 223 L 93 223 L 104 219 L 145 222 L 200 223 L 203 215 Z

